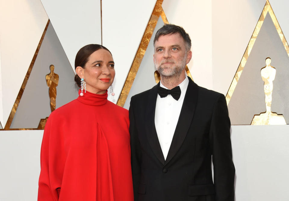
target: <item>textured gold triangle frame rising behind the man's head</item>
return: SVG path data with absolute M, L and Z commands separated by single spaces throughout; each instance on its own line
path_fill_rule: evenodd
M 120 93 L 120 98 L 117 101 L 117 105 L 119 105 L 121 107 L 124 106 L 124 104 L 126 102 L 126 98 L 129 95 L 129 91 L 132 87 L 132 83 L 135 80 L 136 73 L 138 72 L 138 68 L 139 68 L 141 61 L 142 61 L 142 58 L 144 57 L 144 54 L 147 50 L 148 44 L 151 40 L 151 37 L 153 35 L 154 29 L 157 25 L 157 21 L 158 21 L 159 17 L 162 18 L 163 23 L 169 24 L 168 19 L 166 18 L 166 14 L 163 11 L 162 4 L 163 4 L 163 0 L 157 0 L 156 4 L 154 6 L 154 10 L 151 14 L 151 18 L 148 21 L 148 25 L 147 25 L 147 27 L 144 31 L 144 35 L 141 39 L 141 43 L 138 46 L 138 50 L 135 54 L 135 58 L 132 62 L 132 66 L 130 67 L 129 73 L 126 77 L 126 81 L 123 85 L 123 89 Z M 186 66 L 186 72 L 187 72 L 188 76 L 192 78 L 191 73 L 188 69 L 188 66 Z M 156 74 L 155 74 L 155 76 L 156 76 Z

